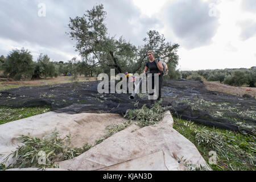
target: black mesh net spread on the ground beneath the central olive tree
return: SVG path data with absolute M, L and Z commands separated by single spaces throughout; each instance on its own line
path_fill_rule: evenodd
M 25 86 L 0 92 L 0 106 L 51 106 L 55 112 L 118 113 L 127 109 L 151 106 L 146 94 L 100 94 L 100 81 L 72 82 L 68 84 Z M 207 90 L 202 81 L 165 80 L 162 105 L 172 115 L 207 126 L 233 131 L 252 132 L 255 129 L 256 101 L 230 94 Z

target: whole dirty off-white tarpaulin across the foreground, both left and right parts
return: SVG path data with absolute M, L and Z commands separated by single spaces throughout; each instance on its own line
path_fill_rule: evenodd
M 0 125 L 0 154 L 14 151 L 19 135 L 44 137 L 55 128 L 61 138 L 70 133 L 74 147 L 94 144 L 105 135 L 106 126 L 124 121 L 127 120 L 118 114 L 54 112 L 20 119 Z M 187 164 L 207 166 L 195 145 L 174 130 L 173 125 L 169 111 L 156 125 L 140 128 L 132 124 L 76 158 L 59 162 L 60 169 L 184 170 L 181 158 Z

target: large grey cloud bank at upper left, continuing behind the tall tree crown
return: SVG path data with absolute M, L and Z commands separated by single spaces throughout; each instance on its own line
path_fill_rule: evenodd
M 46 5 L 46 17 L 38 16 L 38 4 L 41 2 Z M 70 55 L 75 54 L 75 48 L 73 48 L 75 42 L 65 34 L 65 32 L 69 32 L 69 17 L 82 16 L 86 10 L 92 9 L 93 5 L 100 3 L 104 5 L 104 10 L 107 12 L 105 23 L 110 35 L 118 37 L 123 35 L 135 46 L 140 45 L 146 32 L 159 23 L 154 18 L 141 18 L 139 9 L 129 0 L 63 0 L 60 2 L 0 0 L 0 3 L 0 38 L 10 39 L 21 45 L 28 42 L 31 46 L 45 47 L 46 50 L 58 49 L 60 52 Z M 44 51 L 44 49 L 40 51 Z M 49 53 L 54 55 L 54 52 Z M 60 57 L 61 60 L 64 59 L 57 53 L 53 57 L 56 57 L 56 60 L 57 57 Z

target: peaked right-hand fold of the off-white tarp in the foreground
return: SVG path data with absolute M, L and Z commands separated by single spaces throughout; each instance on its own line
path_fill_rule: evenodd
M 156 125 L 138 128 L 137 125 L 133 124 L 97 146 L 90 148 L 84 154 L 60 162 L 60 168 L 75 171 L 104 169 L 114 164 L 142 158 L 162 150 L 165 154 L 171 156 L 170 163 L 173 163 L 175 159 L 175 166 L 179 164 L 178 161 L 181 158 L 186 159 L 188 164 L 206 166 L 205 160 L 195 145 L 174 130 L 172 125 L 173 120 L 170 112 L 166 114 L 162 122 Z M 155 163 L 155 160 L 151 162 Z M 142 169 L 150 169 L 147 163 L 145 165 Z M 138 169 L 137 166 L 129 169 L 133 168 Z M 154 169 L 162 170 L 162 167 L 159 166 L 159 168 Z

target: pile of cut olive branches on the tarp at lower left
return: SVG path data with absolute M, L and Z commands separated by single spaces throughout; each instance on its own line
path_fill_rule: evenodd
M 28 167 L 39 169 L 58 168 L 58 164 L 55 164 L 55 162 L 73 159 L 92 147 L 87 143 L 81 148 L 68 147 L 70 139 L 70 135 L 63 139 L 59 138 L 57 131 L 44 138 L 20 135 L 18 140 L 22 143 L 22 146 L 19 146 L 17 150 L 7 156 L 2 164 L 0 164 L 0 167 L 2 169 Z M 11 156 L 16 160 L 16 163 L 5 167 L 5 163 Z

